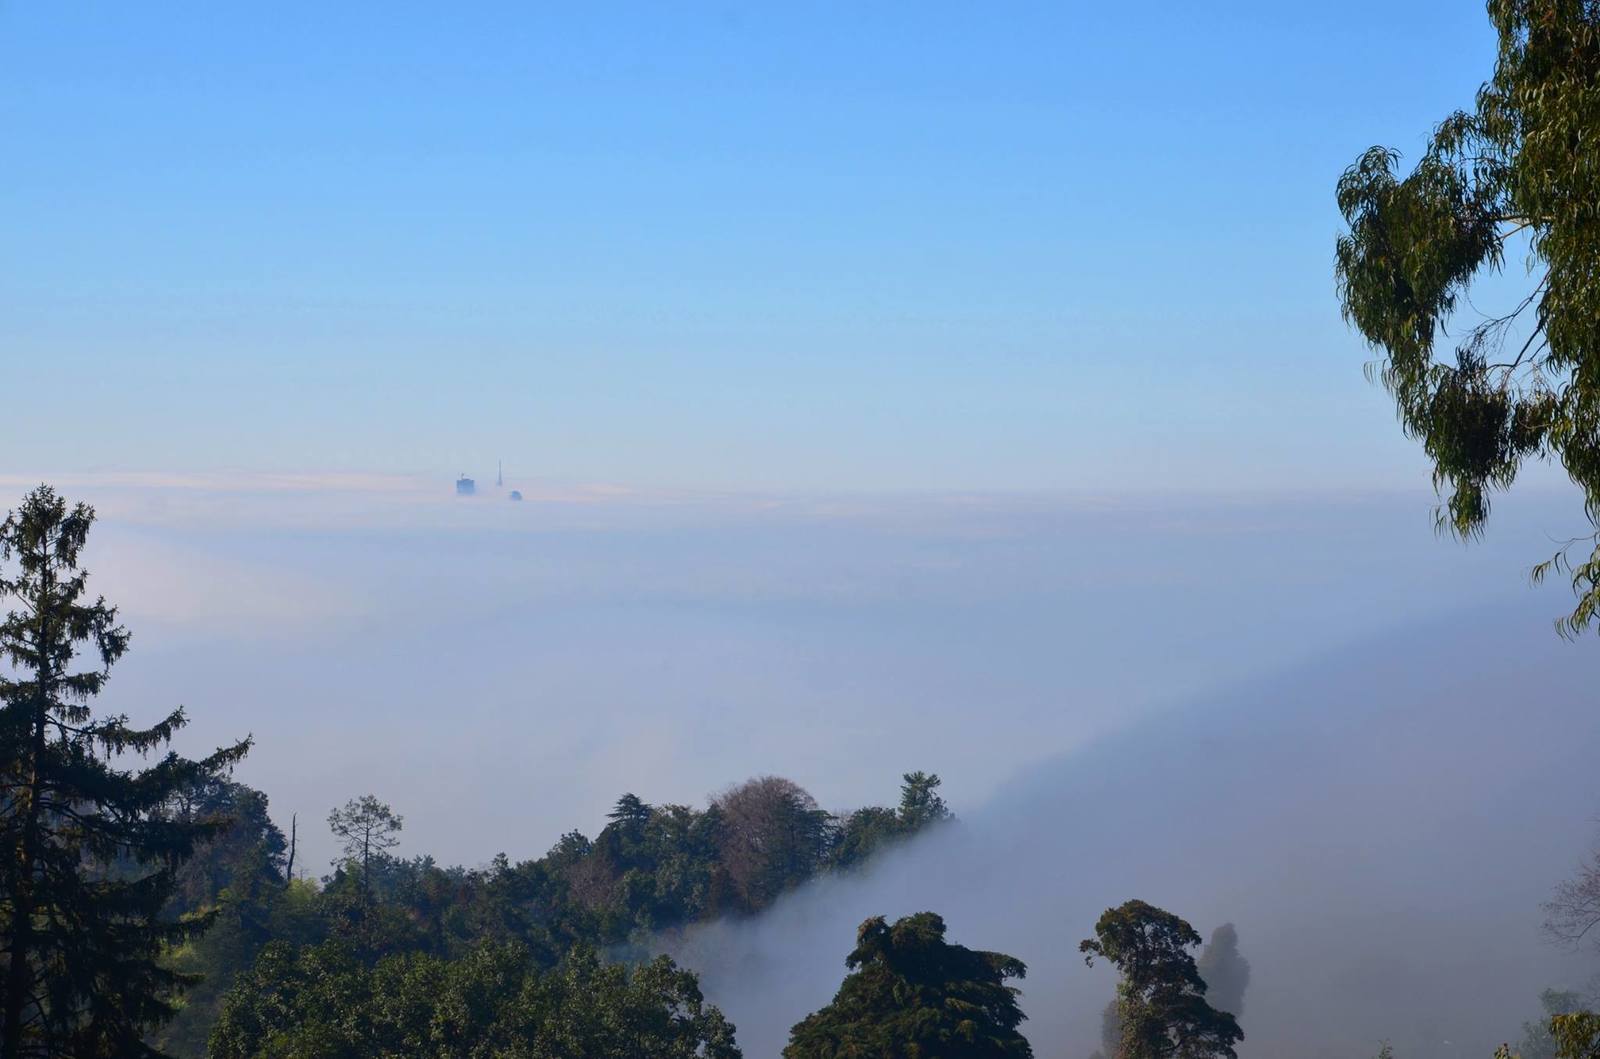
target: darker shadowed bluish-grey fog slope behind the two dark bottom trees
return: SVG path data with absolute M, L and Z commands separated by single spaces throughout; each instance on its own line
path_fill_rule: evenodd
M 1547 985 L 1600 966 L 1539 931 L 1600 811 L 1595 649 L 1539 608 L 1472 609 L 1146 717 L 1029 769 L 866 875 L 662 947 L 699 969 L 752 1059 L 826 1003 L 867 915 L 931 909 L 1021 957 L 1042 1059 L 1099 1045 L 1098 913 L 1142 897 L 1238 926 L 1240 1054 L 1486 1057 Z M 1314 601 L 1307 600 L 1307 606 Z

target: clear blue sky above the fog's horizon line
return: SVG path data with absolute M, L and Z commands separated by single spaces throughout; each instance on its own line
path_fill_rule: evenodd
M 0 3 L 0 469 L 1416 483 L 1333 182 L 1491 48 L 1443 2 Z

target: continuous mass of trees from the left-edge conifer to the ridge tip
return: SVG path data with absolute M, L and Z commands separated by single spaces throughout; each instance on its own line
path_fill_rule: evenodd
M 0 525 L 0 597 L 19 603 L 0 622 L 0 1059 L 198 1057 L 208 1041 L 728 1059 L 733 1027 L 691 974 L 595 952 L 757 912 L 949 819 L 926 773 L 904 776 L 898 808 L 845 819 L 760 777 L 704 811 L 626 793 L 594 840 L 469 870 L 395 857 L 403 821 L 366 795 L 328 817 L 342 857 L 322 886 L 288 878 L 266 797 L 227 779 L 248 741 L 136 768 L 182 710 L 150 728 L 93 717 L 128 633 L 85 595 L 91 523 L 40 488 Z

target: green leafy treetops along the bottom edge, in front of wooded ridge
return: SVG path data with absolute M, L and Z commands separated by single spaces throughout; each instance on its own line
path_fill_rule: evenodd
M 216 1059 L 738 1059 L 733 1025 L 694 974 L 573 950 L 539 971 L 520 945 L 485 942 L 368 965 L 341 942 L 274 942 L 229 992 Z

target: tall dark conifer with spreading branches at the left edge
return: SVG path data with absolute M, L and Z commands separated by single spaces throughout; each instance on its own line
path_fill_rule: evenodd
M 150 728 L 93 715 L 128 649 L 117 609 L 86 595 L 93 522 L 40 486 L 0 525 L 14 605 L 0 622 L 0 1059 L 155 1054 L 142 1038 L 189 982 L 160 957 L 208 921 L 166 913 L 178 870 L 226 827 L 171 809 L 250 747 L 139 768 L 184 712 Z

